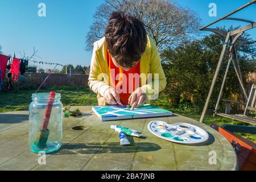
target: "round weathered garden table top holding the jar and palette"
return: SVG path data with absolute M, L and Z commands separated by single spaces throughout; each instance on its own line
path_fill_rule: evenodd
M 101 122 L 92 106 L 78 106 L 80 118 L 63 119 L 63 146 L 41 155 L 28 148 L 28 111 L 0 114 L 0 170 L 236 170 L 236 152 L 220 133 L 191 118 L 140 118 Z M 76 107 L 71 107 L 76 109 Z M 147 129 L 150 121 L 186 122 L 209 134 L 200 144 L 179 144 L 156 137 Z M 120 146 L 110 125 L 141 131 L 145 138 L 129 137 L 131 146 Z M 214 159 L 216 155 L 216 160 Z

